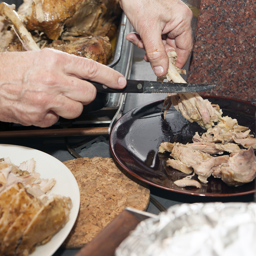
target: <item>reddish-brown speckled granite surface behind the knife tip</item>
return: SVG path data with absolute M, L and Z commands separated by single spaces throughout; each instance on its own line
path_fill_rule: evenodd
M 187 82 L 207 95 L 256 100 L 256 0 L 202 0 Z

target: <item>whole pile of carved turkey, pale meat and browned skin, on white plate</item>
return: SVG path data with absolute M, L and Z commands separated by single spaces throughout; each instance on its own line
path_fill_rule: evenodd
M 27 256 L 68 221 L 70 198 L 47 196 L 54 179 L 41 179 L 31 159 L 15 166 L 0 162 L 0 255 Z

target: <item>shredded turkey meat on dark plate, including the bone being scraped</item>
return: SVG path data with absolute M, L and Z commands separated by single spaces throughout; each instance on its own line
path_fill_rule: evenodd
M 186 83 L 176 68 L 176 52 L 168 52 L 169 69 L 165 77 L 169 81 Z M 184 73 L 184 72 L 183 72 Z M 197 174 L 198 180 L 207 183 L 210 176 L 221 178 L 229 186 L 240 186 L 256 177 L 256 138 L 250 129 L 240 126 L 236 119 L 222 117 L 216 104 L 204 100 L 197 93 L 168 94 L 164 100 L 164 118 L 173 104 L 189 122 L 197 122 L 206 132 L 196 132 L 193 143 L 162 142 L 158 152 L 170 152 L 166 166 L 185 174 Z M 220 156 L 221 155 L 221 156 Z M 176 186 L 198 186 L 193 175 L 176 180 Z

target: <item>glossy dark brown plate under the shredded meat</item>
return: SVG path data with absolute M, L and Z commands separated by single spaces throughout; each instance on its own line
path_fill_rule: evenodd
M 238 124 L 248 126 L 255 133 L 256 104 L 224 97 L 206 96 L 218 104 L 222 116 L 236 118 Z M 160 114 L 163 100 L 144 104 L 127 112 L 110 133 L 110 149 L 117 162 L 136 178 L 158 188 L 198 196 L 240 196 L 255 191 L 254 181 L 243 186 L 230 187 L 221 179 L 211 176 L 202 188 L 176 186 L 173 182 L 186 176 L 166 166 L 170 153 L 158 153 L 162 142 L 192 142 L 195 132 L 204 132 L 197 123 L 188 122 L 171 107 L 166 120 Z M 197 179 L 197 177 L 193 177 Z

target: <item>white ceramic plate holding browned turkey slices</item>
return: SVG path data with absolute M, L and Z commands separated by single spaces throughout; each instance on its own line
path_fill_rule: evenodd
M 61 196 L 69 196 L 72 200 L 72 209 L 69 215 L 69 221 L 66 223 L 50 242 L 36 247 L 36 250 L 30 254 L 31 256 L 51 256 L 64 242 L 70 233 L 80 207 L 80 192 L 78 184 L 72 172 L 58 159 L 46 154 L 42 151 L 27 148 L 23 146 L 15 146 L 8 144 L 0 144 L 0 158 L 9 157 L 13 164 L 20 163 L 34 158 L 36 161 L 35 171 L 41 174 L 41 178 L 56 180 L 56 184 L 49 194 L 58 194 Z

